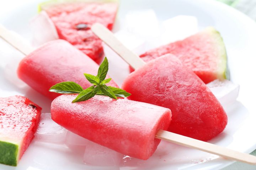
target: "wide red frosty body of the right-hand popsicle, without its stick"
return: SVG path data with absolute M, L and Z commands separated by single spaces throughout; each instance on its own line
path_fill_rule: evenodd
M 131 73 L 123 89 L 130 100 L 172 111 L 169 131 L 208 141 L 225 129 L 227 115 L 208 87 L 174 55 L 164 55 Z

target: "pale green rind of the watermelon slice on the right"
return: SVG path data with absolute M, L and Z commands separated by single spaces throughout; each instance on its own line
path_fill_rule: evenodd
M 227 62 L 226 47 L 222 36 L 214 27 L 207 27 L 206 32 L 210 33 L 212 37 L 216 38 L 217 47 L 219 48 L 219 58 L 217 65 L 217 79 L 229 79 L 229 70 Z

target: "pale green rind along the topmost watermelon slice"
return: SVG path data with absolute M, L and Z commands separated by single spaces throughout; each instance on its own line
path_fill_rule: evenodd
M 119 0 L 49 0 L 46 2 L 42 2 L 38 5 L 38 12 L 46 9 L 47 7 L 51 7 L 57 4 L 63 4 L 67 2 L 98 2 L 98 3 L 108 3 L 108 2 L 116 2 L 119 3 Z

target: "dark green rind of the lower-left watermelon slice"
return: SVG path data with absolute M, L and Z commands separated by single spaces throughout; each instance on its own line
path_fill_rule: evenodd
M 0 141 L 0 163 L 17 166 L 19 146 L 5 141 Z

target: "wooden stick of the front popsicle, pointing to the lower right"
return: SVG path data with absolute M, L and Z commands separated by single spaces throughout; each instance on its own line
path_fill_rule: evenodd
M 159 130 L 158 133 L 155 135 L 155 137 L 168 142 L 176 143 L 181 146 L 186 146 L 186 147 L 198 149 L 204 152 L 219 155 L 227 159 L 237 160 L 247 164 L 256 165 L 256 157 L 254 155 L 234 151 L 228 148 L 214 145 L 212 143 L 199 141 L 190 137 L 178 135 L 165 130 Z

